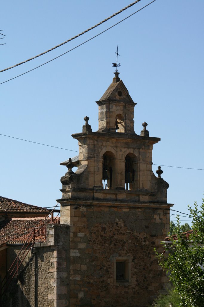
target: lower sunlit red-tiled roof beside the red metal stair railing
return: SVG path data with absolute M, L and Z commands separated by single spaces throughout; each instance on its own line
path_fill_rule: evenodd
M 47 219 L 46 223 L 50 223 Z M 56 218 L 54 223 L 60 223 L 60 218 Z M 0 246 L 4 244 L 24 243 L 34 230 L 34 227 L 44 227 L 45 218 L 7 218 L 0 223 Z M 41 229 L 42 230 L 42 229 Z M 32 235 L 31 235 L 32 237 Z M 31 238 L 30 237 L 30 238 Z M 37 234 L 35 242 L 44 242 L 45 232 Z

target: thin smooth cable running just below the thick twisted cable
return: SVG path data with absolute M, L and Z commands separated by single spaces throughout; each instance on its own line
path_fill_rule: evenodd
M 76 47 L 74 47 L 74 48 L 72 48 L 72 49 L 69 49 L 68 51 L 66 51 L 66 52 L 64 52 L 64 53 L 62 53 L 62 54 L 60 54 L 59 56 L 56 56 L 56 57 L 54 57 L 53 59 L 51 59 L 51 60 L 49 60 L 49 61 L 47 61 L 47 62 L 45 62 L 45 63 L 43 63 L 43 64 L 41 64 L 41 65 L 39 65 L 39 66 L 37 66 L 37 67 L 35 67 L 35 68 L 32 68 L 32 69 L 28 70 L 27 72 L 24 72 L 24 73 L 22 73 L 22 74 L 20 74 L 20 75 L 18 75 L 18 76 L 15 76 L 15 77 L 13 77 L 13 78 L 11 78 L 11 79 L 8 79 L 8 80 L 6 80 L 6 81 L 4 81 L 4 82 L 1 82 L 0 85 L 3 84 L 3 83 L 6 83 L 6 82 L 8 82 L 8 81 L 11 81 L 11 80 L 13 80 L 13 79 L 16 79 L 16 78 L 18 78 L 18 77 L 20 77 L 20 76 L 23 76 L 23 75 L 27 74 L 28 72 L 32 72 L 33 70 L 35 70 L 35 69 L 37 69 L 37 68 L 39 68 L 39 67 L 41 67 L 41 66 L 43 66 L 43 65 L 45 65 L 45 64 L 48 64 L 48 63 L 50 63 L 50 62 L 52 62 L 52 61 L 58 59 L 59 57 L 65 55 L 66 53 L 68 53 L 68 52 L 70 52 L 70 51 L 72 51 L 72 50 L 74 50 L 74 49 L 76 49 L 76 48 L 78 48 L 78 47 L 84 45 L 84 44 L 87 43 L 88 41 L 91 41 L 91 40 L 94 39 L 95 37 L 97 37 L 97 36 L 99 36 L 99 35 L 105 33 L 106 31 L 108 31 L 109 29 L 115 27 L 116 25 L 118 25 L 118 24 L 121 23 L 122 21 L 128 19 L 129 17 L 131 17 L 131 16 L 133 16 L 134 14 L 138 13 L 139 11 L 143 10 L 145 7 L 149 6 L 150 4 L 152 4 L 152 3 L 155 2 L 155 1 L 156 1 L 156 0 L 153 0 L 152 2 L 148 3 L 146 6 L 143 6 L 141 9 L 137 10 L 136 12 L 134 12 L 133 14 L 129 15 L 128 17 L 125 17 L 124 19 L 122 19 L 121 21 L 119 21 L 119 22 L 117 22 L 116 24 L 112 25 L 112 26 L 109 27 L 108 29 L 106 29 L 106 30 L 104 30 L 104 31 L 102 31 L 102 32 L 100 32 L 100 33 L 98 33 L 97 35 L 91 37 L 90 39 L 88 39 L 87 41 L 84 41 L 83 43 L 77 45 Z M 11 68 L 12 68 L 12 67 L 11 67 Z M 2 71 L 0 71 L 0 72 L 2 72 Z

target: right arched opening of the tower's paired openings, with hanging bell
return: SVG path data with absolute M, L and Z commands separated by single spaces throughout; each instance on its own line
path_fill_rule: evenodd
M 134 190 L 137 187 L 136 178 L 136 157 L 133 153 L 128 153 L 125 157 L 125 189 Z

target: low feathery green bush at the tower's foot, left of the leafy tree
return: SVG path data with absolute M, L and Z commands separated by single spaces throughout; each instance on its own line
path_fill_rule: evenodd
M 153 307 L 169 307 L 170 304 L 172 307 L 179 307 L 180 296 L 174 290 L 170 290 L 167 294 L 160 295 L 156 298 Z

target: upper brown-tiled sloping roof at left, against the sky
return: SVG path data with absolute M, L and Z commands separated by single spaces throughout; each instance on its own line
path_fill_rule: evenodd
M 37 207 L 22 203 L 17 200 L 9 199 L 0 196 L 0 213 L 1 212 L 15 212 L 15 213 L 49 213 L 47 208 Z

